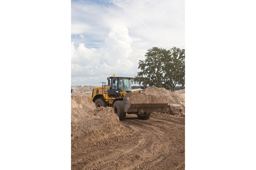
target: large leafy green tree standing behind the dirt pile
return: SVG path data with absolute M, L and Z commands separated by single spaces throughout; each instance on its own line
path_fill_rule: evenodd
M 172 47 L 163 49 L 153 47 L 145 53 L 145 59 L 139 60 L 138 75 L 134 83 L 147 86 L 164 87 L 176 90 L 176 85 L 185 86 L 185 49 Z

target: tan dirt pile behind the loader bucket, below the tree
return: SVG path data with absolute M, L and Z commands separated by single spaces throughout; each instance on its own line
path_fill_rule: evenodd
M 171 92 L 161 87 L 148 87 L 144 90 L 145 94 L 162 97 L 168 102 L 168 106 L 163 113 L 172 115 L 185 115 L 185 89 Z

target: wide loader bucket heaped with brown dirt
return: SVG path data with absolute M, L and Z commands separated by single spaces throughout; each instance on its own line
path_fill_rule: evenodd
M 163 112 L 167 105 L 168 103 L 162 98 L 143 93 L 127 93 L 123 98 L 123 108 L 126 113 L 149 114 L 151 112 Z

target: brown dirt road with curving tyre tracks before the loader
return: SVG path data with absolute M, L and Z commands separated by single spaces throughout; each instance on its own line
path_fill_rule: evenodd
M 126 114 L 125 131 L 72 151 L 76 169 L 185 169 L 185 118 L 167 114 L 140 120 Z

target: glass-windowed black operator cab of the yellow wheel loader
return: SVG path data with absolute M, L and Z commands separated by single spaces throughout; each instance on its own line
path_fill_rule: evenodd
M 108 95 L 110 97 L 120 97 L 119 92 L 132 92 L 132 77 L 108 77 Z

